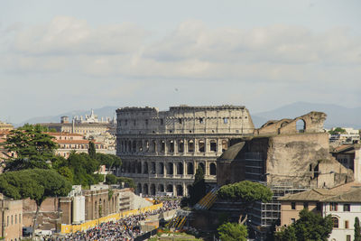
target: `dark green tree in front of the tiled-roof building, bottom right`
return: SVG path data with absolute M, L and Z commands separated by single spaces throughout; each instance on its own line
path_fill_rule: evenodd
M 276 241 L 314 240 L 326 241 L 332 232 L 330 216 L 322 218 L 308 209 L 300 212 L 300 219 L 275 234 Z

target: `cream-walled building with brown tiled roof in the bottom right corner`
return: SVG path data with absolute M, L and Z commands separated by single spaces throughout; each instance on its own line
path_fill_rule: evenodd
M 287 195 L 281 201 L 281 227 L 292 225 L 302 209 L 331 215 L 333 229 L 330 241 L 354 240 L 355 218 L 361 217 L 361 185 L 350 182 L 332 189 L 313 189 Z

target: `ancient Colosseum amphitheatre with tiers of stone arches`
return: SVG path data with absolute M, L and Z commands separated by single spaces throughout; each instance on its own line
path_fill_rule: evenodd
M 188 195 L 197 167 L 216 184 L 216 161 L 229 140 L 255 129 L 244 106 L 123 107 L 116 116 L 116 153 L 123 161 L 118 175 L 133 178 L 143 195 Z

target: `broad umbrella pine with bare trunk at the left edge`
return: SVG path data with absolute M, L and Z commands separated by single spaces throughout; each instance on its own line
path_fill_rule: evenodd
M 8 171 L 0 175 L 0 192 L 12 199 L 30 198 L 36 203 L 32 230 L 36 229 L 36 220 L 42 201 L 48 197 L 66 196 L 71 183 L 53 170 Z

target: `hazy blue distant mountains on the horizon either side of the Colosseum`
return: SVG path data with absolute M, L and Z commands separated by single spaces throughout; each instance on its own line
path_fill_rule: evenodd
M 97 108 L 94 109 L 94 113 L 98 116 L 99 119 L 102 116 L 113 117 L 116 115 L 116 108 L 118 107 Z M 327 120 L 325 122 L 325 128 L 342 126 L 342 127 L 353 127 L 356 129 L 361 129 L 361 107 L 347 108 L 338 105 L 296 102 L 270 111 L 265 111 L 255 114 L 252 113 L 252 109 L 250 110 L 255 127 L 260 127 L 261 125 L 264 125 L 264 123 L 266 123 L 268 120 L 295 118 L 297 116 L 305 115 L 310 111 L 321 111 L 328 115 Z M 25 123 L 29 123 L 29 124 L 46 123 L 46 122 L 59 123 L 60 116 L 69 116 L 69 120 L 71 120 L 73 116 L 85 116 L 89 114 L 90 114 L 90 110 L 88 111 L 75 110 L 67 113 L 62 113 L 58 116 L 34 117 L 22 123 L 19 123 L 16 126 L 21 126 Z

